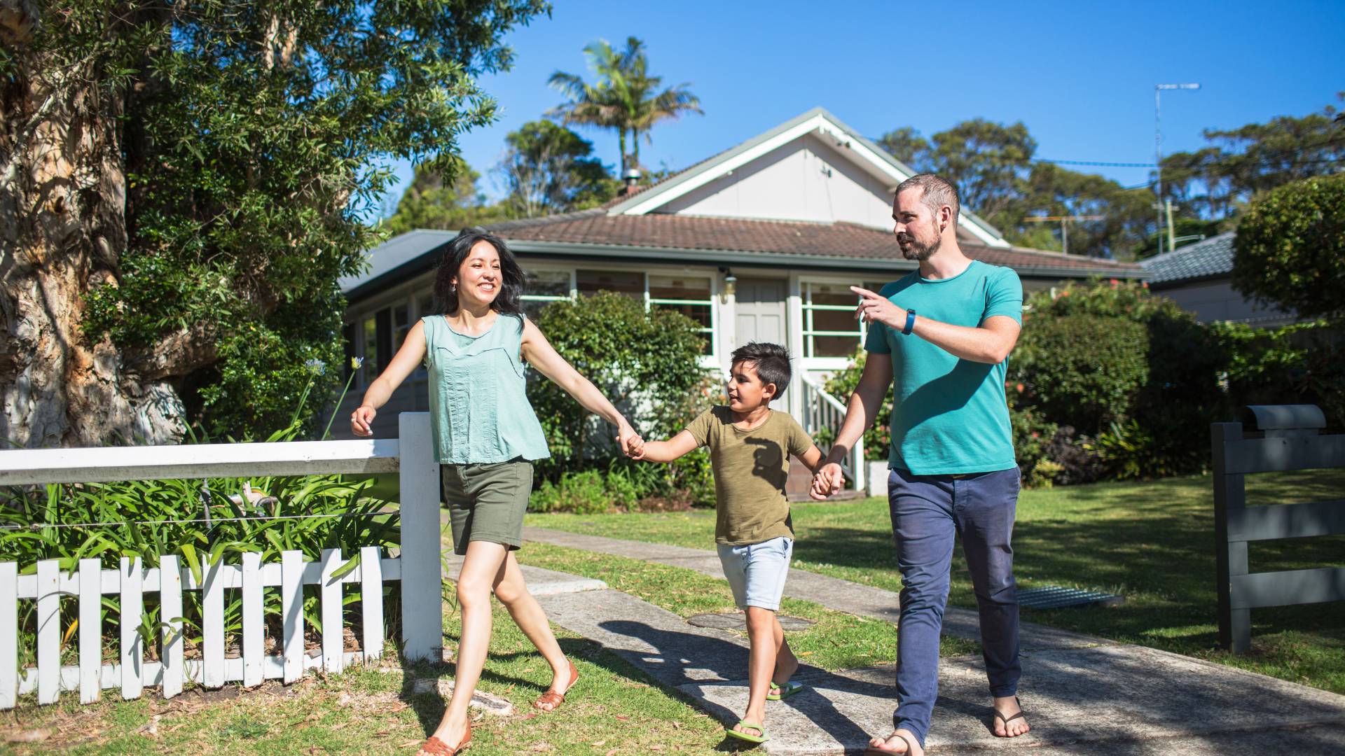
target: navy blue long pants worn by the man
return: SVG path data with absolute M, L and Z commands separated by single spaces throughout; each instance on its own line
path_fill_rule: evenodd
M 1013 522 L 1018 468 L 972 475 L 888 475 L 888 507 L 901 570 L 897 712 L 892 721 L 924 745 L 939 697 L 939 631 L 948 603 L 952 546 L 962 539 L 981 609 L 981 646 L 991 695 L 1018 690 L 1018 599 Z

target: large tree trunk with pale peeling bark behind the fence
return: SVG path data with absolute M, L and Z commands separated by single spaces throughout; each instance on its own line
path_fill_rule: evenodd
M 97 86 L 93 63 L 61 71 L 24 59 L 30 40 L 13 19 L 32 5 L 0 5 L 0 44 L 23 61 L 0 86 L 0 443 L 178 441 L 184 417 L 169 378 L 184 373 L 174 365 L 182 346 L 132 363 L 81 328 L 83 295 L 116 285 L 126 249 L 125 94 Z

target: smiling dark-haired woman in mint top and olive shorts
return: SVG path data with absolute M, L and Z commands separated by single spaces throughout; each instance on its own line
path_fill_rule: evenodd
M 452 519 L 453 552 L 465 560 L 457 576 L 463 636 L 453 697 L 444 720 L 421 745 L 425 756 L 451 756 L 472 739 L 467 705 L 490 646 L 492 589 L 551 666 L 551 686 L 535 706 L 554 710 L 578 678 L 514 558 L 523 542 L 533 460 L 550 456 L 525 393 L 523 361 L 616 425 L 623 452 L 633 453 L 640 444 L 612 402 L 523 315 L 522 291 L 523 272 L 502 239 L 480 229 L 460 233 L 449 242 L 434 278 L 434 297 L 444 313 L 412 327 L 350 418 L 355 434 L 373 434 L 370 424 L 378 408 L 421 361 L 429 365 L 434 452 Z

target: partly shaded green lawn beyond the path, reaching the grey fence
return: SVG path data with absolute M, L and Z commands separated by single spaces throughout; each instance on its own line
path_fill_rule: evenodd
M 1252 652 L 1216 647 L 1213 503 L 1208 476 L 1024 491 L 1014 530 L 1018 582 L 1100 588 L 1114 608 L 1024 609 L 1025 620 L 1209 659 L 1345 693 L 1345 603 L 1252 612 Z M 1345 471 L 1250 476 L 1250 504 L 1338 498 Z M 713 547 L 712 513 L 558 515 L 527 523 L 594 535 Z M 795 566 L 898 591 L 886 502 L 795 504 Z M 1345 565 L 1345 537 L 1251 545 L 1256 572 Z M 975 607 L 966 562 L 951 603 Z

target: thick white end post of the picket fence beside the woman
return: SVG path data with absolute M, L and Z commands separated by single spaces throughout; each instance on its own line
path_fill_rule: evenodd
M 429 413 L 398 417 L 402 522 L 402 654 L 438 660 L 444 648 L 438 460 Z

